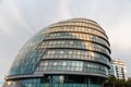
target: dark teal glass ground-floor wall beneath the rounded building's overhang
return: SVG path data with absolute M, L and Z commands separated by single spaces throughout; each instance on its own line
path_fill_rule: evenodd
M 20 87 L 102 87 L 103 78 L 82 75 L 46 75 L 43 78 L 21 79 Z

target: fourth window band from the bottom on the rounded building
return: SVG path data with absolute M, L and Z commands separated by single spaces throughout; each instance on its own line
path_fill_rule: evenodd
M 81 39 L 81 40 L 91 40 L 91 41 L 96 41 L 99 44 L 103 44 L 107 47 L 110 45 L 108 44 L 107 40 L 104 38 L 92 35 L 92 34 L 85 34 L 85 33 L 64 33 L 64 32 L 59 32 L 59 33 L 51 33 L 45 37 L 45 39 Z

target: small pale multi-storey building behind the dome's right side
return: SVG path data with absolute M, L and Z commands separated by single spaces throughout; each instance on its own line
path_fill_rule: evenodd
M 110 62 L 109 75 L 115 75 L 119 79 L 127 79 L 126 63 L 121 60 L 112 60 Z

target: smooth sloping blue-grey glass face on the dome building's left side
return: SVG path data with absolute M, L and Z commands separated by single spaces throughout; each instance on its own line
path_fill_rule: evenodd
M 41 42 L 45 37 L 45 35 L 40 34 L 41 32 L 31 38 L 20 50 L 13 61 L 9 75 L 32 74 L 35 71 L 35 67 L 45 51 L 44 49 L 36 50 L 38 44 Z

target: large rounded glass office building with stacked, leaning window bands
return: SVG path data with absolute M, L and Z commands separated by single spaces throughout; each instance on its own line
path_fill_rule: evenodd
M 110 45 L 94 21 L 70 18 L 32 37 L 5 77 L 7 87 L 103 87 Z

